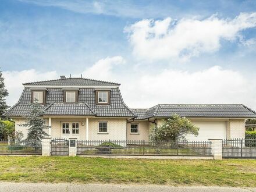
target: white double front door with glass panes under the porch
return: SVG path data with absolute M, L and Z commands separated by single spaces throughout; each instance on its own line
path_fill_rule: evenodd
M 79 138 L 79 122 L 61 122 L 61 137 L 69 138 L 76 137 Z

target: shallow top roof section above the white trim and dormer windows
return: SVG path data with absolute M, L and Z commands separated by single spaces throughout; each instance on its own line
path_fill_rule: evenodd
M 119 83 L 108 81 L 99 81 L 85 78 L 67 78 L 48 81 L 37 81 L 32 83 L 23 83 L 25 86 L 119 86 Z

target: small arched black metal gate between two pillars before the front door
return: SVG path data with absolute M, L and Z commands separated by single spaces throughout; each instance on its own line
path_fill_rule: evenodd
M 52 155 L 69 155 L 69 140 L 55 138 L 51 141 Z

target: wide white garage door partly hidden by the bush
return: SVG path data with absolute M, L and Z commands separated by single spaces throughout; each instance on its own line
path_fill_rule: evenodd
M 201 140 L 205 141 L 208 140 L 208 138 L 226 138 L 226 122 L 225 121 L 192 121 L 194 125 L 198 126 L 199 134 L 197 137 L 193 135 L 187 135 L 187 140 Z

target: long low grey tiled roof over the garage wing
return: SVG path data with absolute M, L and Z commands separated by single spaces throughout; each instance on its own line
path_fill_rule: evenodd
M 146 111 L 133 109 L 137 119 L 168 118 L 174 114 L 189 118 L 256 118 L 256 113 L 247 106 L 234 105 L 171 105 L 159 104 Z M 143 115 L 144 113 L 144 115 Z

